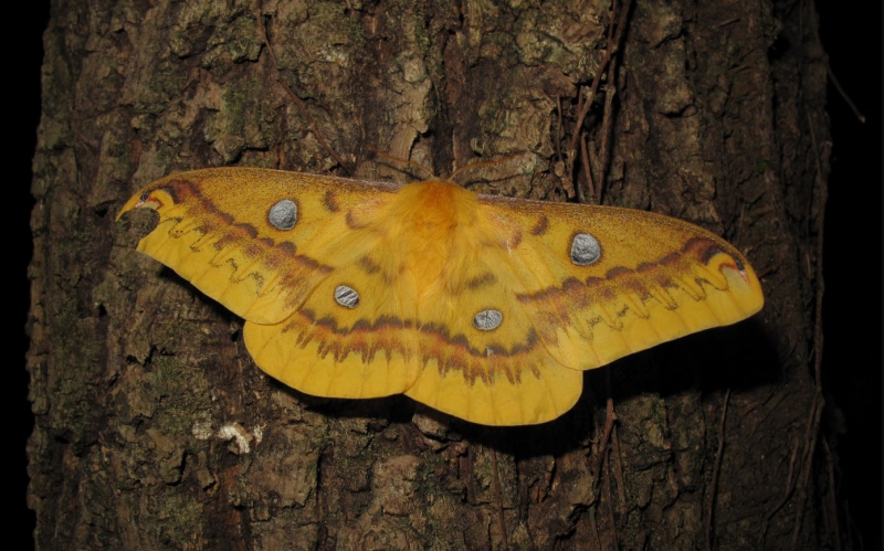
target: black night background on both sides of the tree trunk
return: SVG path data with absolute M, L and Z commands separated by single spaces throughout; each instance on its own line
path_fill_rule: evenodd
M 829 85 L 828 110 L 832 123 L 832 173 L 825 216 L 823 327 L 823 389 L 827 407 L 838 407 L 846 433 L 838 438 L 839 497 L 846 501 L 856 549 L 882 549 L 882 6 L 881 2 L 849 4 L 835 0 L 817 2 L 823 46 L 835 76 L 865 116 L 857 121 L 844 99 Z M 18 8 L 24 11 L 11 30 L 17 45 L 7 56 L 7 103 L 12 125 L 7 135 L 12 173 L 8 179 L 14 258 L 11 289 L 13 314 L 11 395 L 14 438 L 10 455 L 17 458 L 10 495 L 14 513 L 9 542 L 27 549 L 34 528 L 34 513 L 25 506 L 28 477 L 24 445 L 33 427 L 28 402 L 28 373 L 23 369 L 28 337 L 23 330 L 30 306 L 27 265 L 31 258 L 29 227 L 33 199 L 30 195 L 31 159 L 40 120 L 40 66 L 42 33 L 49 21 L 45 1 Z M 8 36 L 11 36 L 9 33 Z M 14 64 L 19 64 L 15 66 Z M 857 257 L 857 253 L 863 256 Z M 871 261 L 869 261 L 871 258 Z M 825 416 L 838 423 L 838 416 Z M 819 456 L 817 460 L 820 460 Z M 810 519 L 808 519 L 810 520 Z M 813 520 L 810 520 L 813 521 Z M 31 543 L 32 545 L 32 543 Z

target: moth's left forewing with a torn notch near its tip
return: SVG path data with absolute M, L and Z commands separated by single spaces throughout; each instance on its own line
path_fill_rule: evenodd
M 329 215 L 357 201 L 359 184 L 276 170 L 217 168 L 158 180 L 120 211 L 147 206 L 157 226 L 138 251 L 171 267 L 234 314 L 277 324 L 333 269 L 317 254 L 347 231 Z M 330 201 L 329 193 L 345 190 Z

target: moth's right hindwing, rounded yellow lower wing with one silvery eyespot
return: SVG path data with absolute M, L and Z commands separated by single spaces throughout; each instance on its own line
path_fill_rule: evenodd
M 419 353 L 423 369 L 408 396 L 485 425 L 525 425 L 558 417 L 577 402 L 583 375 L 552 358 L 538 341 L 533 312 L 499 284 L 501 257 L 478 255 L 465 283 L 422 303 Z M 474 287 L 470 289 L 471 285 Z M 496 327 L 495 325 L 498 324 Z M 478 329 L 485 327 L 487 329 Z

